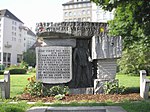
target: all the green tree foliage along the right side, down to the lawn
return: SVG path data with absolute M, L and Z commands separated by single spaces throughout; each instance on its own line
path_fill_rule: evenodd
M 125 73 L 129 73 L 131 66 L 133 69 L 130 72 L 135 73 L 140 69 L 150 69 L 150 1 L 91 1 L 100 5 L 104 10 L 111 11 L 115 9 L 114 20 L 108 23 L 109 34 L 113 36 L 122 36 L 123 39 L 124 51 L 119 61 L 120 68 L 124 68 Z M 135 62 L 133 62 L 133 60 L 135 60 Z

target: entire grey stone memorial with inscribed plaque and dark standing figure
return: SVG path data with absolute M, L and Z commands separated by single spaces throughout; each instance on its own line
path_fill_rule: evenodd
M 107 35 L 106 23 L 37 23 L 36 31 L 42 41 L 36 48 L 37 80 L 83 89 L 115 79 L 122 42 Z

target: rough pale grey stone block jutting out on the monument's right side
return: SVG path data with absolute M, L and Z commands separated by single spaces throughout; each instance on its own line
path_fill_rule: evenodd
M 92 59 L 120 58 L 121 54 L 121 37 L 109 37 L 106 34 L 92 37 Z

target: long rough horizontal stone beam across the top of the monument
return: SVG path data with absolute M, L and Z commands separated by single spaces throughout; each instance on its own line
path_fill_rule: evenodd
M 100 29 L 107 32 L 106 23 L 98 22 L 61 22 L 61 23 L 37 23 L 38 36 L 50 36 L 50 38 L 61 38 L 62 35 L 70 38 L 87 38 L 101 34 Z M 57 36 L 56 36 L 57 34 Z

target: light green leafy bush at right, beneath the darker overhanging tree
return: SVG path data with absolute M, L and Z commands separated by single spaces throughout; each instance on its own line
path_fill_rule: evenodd
M 137 74 L 140 70 L 146 70 L 150 75 L 150 49 L 133 45 L 131 49 L 123 51 L 118 60 L 119 71 L 123 74 Z

